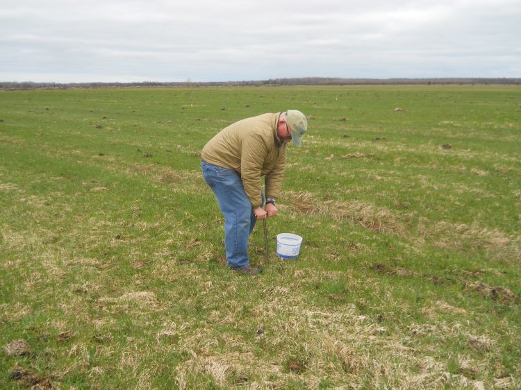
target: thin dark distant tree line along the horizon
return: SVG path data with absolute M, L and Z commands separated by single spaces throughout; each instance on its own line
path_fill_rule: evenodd
M 509 84 L 520 85 L 521 78 L 270 78 L 250 81 L 168 82 L 144 81 L 141 83 L 33 83 L 32 81 L 0 81 L 0 90 L 35 90 L 68 88 L 118 88 L 118 87 L 240 87 L 280 85 L 463 85 Z

